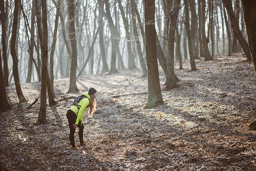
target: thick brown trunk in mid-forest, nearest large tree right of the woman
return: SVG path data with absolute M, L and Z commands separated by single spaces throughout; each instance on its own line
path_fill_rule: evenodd
M 146 108 L 163 103 L 156 55 L 155 0 L 145 0 L 145 42 L 148 67 L 148 100 Z

